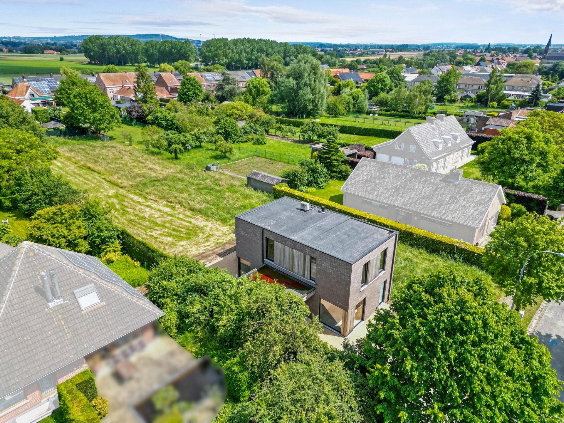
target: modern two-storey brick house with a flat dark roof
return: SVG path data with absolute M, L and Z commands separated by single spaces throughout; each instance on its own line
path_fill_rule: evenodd
M 239 276 L 284 285 L 342 336 L 389 299 L 397 240 L 396 231 L 289 197 L 235 216 Z

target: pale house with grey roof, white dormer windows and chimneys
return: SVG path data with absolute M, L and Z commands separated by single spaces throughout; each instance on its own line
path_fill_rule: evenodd
M 428 116 L 424 124 L 410 126 L 395 139 L 372 149 L 376 160 L 409 167 L 423 163 L 430 171 L 447 173 L 474 159 L 470 155 L 473 143 L 455 116 L 438 113 L 436 118 Z

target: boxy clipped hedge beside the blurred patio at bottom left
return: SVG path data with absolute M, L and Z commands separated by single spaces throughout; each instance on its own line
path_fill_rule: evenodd
M 80 372 L 59 384 L 57 391 L 59 393 L 59 412 L 64 423 L 100 423 L 98 414 L 90 404 L 90 400 L 86 398 L 86 394 L 91 396 L 93 391 L 98 395 L 94 376 L 90 370 Z

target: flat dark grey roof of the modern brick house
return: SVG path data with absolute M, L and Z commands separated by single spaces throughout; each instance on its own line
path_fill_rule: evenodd
M 236 218 L 307 245 L 347 263 L 356 263 L 393 237 L 396 231 L 319 206 L 300 209 L 300 201 L 281 197 Z

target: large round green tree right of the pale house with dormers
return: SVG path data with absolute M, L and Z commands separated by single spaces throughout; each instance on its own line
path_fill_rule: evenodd
M 562 151 L 538 125 L 505 128 L 482 144 L 475 159 L 482 175 L 504 187 L 535 192 L 562 166 Z

